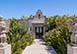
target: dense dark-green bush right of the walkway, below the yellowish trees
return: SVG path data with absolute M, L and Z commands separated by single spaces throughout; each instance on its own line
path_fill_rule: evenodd
M 53 46 L 58 54 L 67 54 L 67 44 L 70 42 L 70 33 L 67 28 L 53 29 L 47 32 L 43 39 L 47 45 Z

